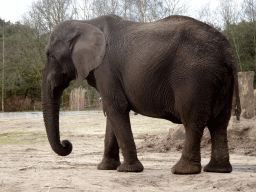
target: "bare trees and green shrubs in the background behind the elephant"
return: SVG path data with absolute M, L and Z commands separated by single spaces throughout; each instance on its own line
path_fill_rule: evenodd
M 220 30 L 233 46 L 239 71 L 256 72 L 256 0 L 220 0 L 192 10 L 186 0 L 35 0 L 16 23 L 0 18 L 0 88 L 2 111 L 41 109 L 41 78 L 44 48 L 49 34 L 67 19 L 91 19 L 116 14 L 124 19 L 153 22 L 169 15 L 192 16 Z M 256 83 L 255 83 L 256 85 Z M 99 94 L 88 86 L 72 82 L 63 94 L 62 108 L 76 87 L 86 89 L 87 108 L 99 106 Z

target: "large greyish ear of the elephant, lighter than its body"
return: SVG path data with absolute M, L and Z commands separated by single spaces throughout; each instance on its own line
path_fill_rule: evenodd
M 73 22 L 76 32 L 70 40 L 72 60 L 77 70 L 77 80 L 84 80 L 97 68 L 105 55 L 106 41 L 102 31 L 90 24 Z

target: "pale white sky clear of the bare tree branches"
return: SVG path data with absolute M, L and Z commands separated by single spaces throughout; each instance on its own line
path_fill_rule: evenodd
M 15 23 L 21 19 L 22 14 L 24 14 L 32 2 L 35 0 L 1 0 L 0 3 L 0 18 L 5 21 L 11 21 Z M 4 2 L 3 2 L 4 1 Z M 206 2 L 211 2 L 211 7 L 216 7 L 218 5 L 218 0 L 187 0 L 190 4 L 190 8 L 201 8 Z

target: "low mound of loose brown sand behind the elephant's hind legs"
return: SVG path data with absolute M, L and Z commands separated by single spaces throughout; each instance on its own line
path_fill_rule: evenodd
M 139 135 L 137 139 L 143 139 L 138 144 L 138 152 L 169 152 L 182 150 L 184 146 L 185 129 L 183 125 L 177 125 L 167 133 L 158 135 Z M 232 117 L 228 126 L 228 145 L 230 153 L 256 156 L 256 117 L 252 119 L 240 118 L 237 121 Z M 211 149 L 211 136 L 208 128 L 204 130 L 201 141 L 201 149 Z

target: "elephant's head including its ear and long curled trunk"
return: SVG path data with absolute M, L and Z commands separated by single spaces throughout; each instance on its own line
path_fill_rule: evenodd
M 61 95 L 73 79 L 81 81 L 97 68 L 105 55 L 105 36 L 98 28 L 79 21 L 58 24 L 46 47 L 42 80 L 43 115 L 48 140 L 61 156 L 69 155 L 72 144 L 60 143 L 59 110 Z

